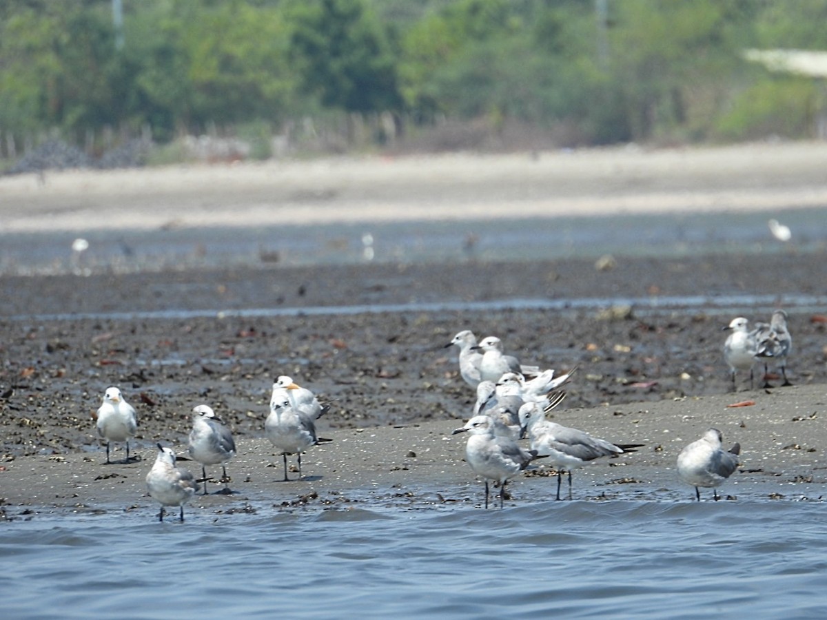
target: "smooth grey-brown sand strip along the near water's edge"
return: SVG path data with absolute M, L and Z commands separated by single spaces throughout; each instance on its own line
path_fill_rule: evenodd
M 752 406 L 728 405 L 753 400 Z M 574 471 L 575 500 L 694 501 L 694 489 L 676 477 L 674 460 L 683 446 L 708 427 L 724 433 L 724 446 L 742 446 L 736 474 L 719 487 L 739 501 L 824 501 L 827 493 L 827 429 L 820 424 L 825 390 L 820 385 L 753 390 L 658 403 L 560 409 L 556 422 L 618 443 L 638 442 L 637 452 L 600 459 Z M 320 421 L 320 422 L 323 422 Z M 294 509 L 436 509 L 479 507 L 480 479 L 464 462 L 465 436 L 451 436 L 460 420 L 419 422 L 404 427 L 326 428 L 332 443 L 314 446 L 303 460 L 305 479 L 280 481 L 280 456 L 261 437 L 243 437 L 227 465 L 232 495 L 198 494 L 185 516 L 266 513 Z M 525 441 L 523 441 L 525 443 Z M 178 454 L 185 446 L 173 446 Z M 2 463 L 2 510 L 7 520 L 50 514 L 130 512 L 151 520 L 157 504 L 146 495 L 144 477 L 154 460 L 151 448 L 133 448 L 136 463 L 102 465 L 103 451 L 26 456 Z M 122 457 L 122 446 L 113 460 Z M 289 457 L 289 464 L 294 457 Z M 546 470 L 542 460 L 539 470 Z M 270 466 L 273 465 L 273 466 Z M 179 461 L 197 474 L 198 464 Z M 214 475 L 218 467 L 208 470 Z M 546 472 L 547 474 L 547 472 Z M 291 473 L 291 475 L 296 475 Z M 553 499 L 556 482 L 529 472 L 509 483 L 514 503 Z M 711 501 L 711 489 L 701 489 Z

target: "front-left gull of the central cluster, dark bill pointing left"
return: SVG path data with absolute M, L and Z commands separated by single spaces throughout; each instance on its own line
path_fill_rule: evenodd
M 502 508 L 505 484 L 538 458 L 537 452 L 523 450 L 513 439 L 495 434 L 495 422 L 488 416 L 471 417 L 464 427 L 457 428 L 452 435 L 460 432 L 471 434 L 466 442 L 466 460 L 474 473 L 485 480 L 485 508 L 488 508 L 489 480 L 500 483 Z

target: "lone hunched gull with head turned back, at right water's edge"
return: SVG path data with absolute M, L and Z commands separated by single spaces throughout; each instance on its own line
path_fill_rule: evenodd
M 698 441 L 692 441 L 677 455 L 677 473 L 686 484 L 695 487 L 695 496 L 699 502 L 699 487 L 712 487 L 712 497 L 718 501 L 718 490 L 715 487 L 729 478 L 738 467 L 741 446 L 736 443 L 724 452 L 721 450 L 722 439 L 717 428 L 710 428 Z

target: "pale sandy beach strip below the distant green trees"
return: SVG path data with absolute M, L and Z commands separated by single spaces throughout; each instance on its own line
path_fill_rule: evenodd
M 0 230 L 780 212 L 827 204 L 825 168 L 814 141 L 67 170 L 0 177 Z

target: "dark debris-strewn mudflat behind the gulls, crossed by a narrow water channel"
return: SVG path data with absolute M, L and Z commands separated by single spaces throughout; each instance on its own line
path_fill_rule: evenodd
M 825 384 L 827 295 L 823 253 L 715 255 L 440 265 L 238 268 L 0 278 L 0 454 L 98 450 L 91 412 L 108 385 L 139 414 L 133 445 L 185 441 L 189 412 L 208 403 L 239 437 L 263 435 L 270 386 L 289 374 L 331 410 L 324 428 L 468 417 L 474 394 L 444 345 L 461 329 L 497 335 L 523 360 L 577 365 L 566 408 L 724 393 L 720 329 L 772 308 L 716 308 L 715 299 L 777 296 L 795 341 L 795 384 Z M 665 298 L 705 295 L 710 306 L 426 311 L 417 304 L 513 299 Z M 407 304 L 404 312 L 238 317 L 250 308 Z M 729 310 L 731 309 L 731 312 Z M 202 316 L 175 312 L 205 311 Z M 216 311 L 216 312 L 212 312 Z M 136 312 L 170 312 L 165 318 Z M 46 315 L 84 315 L 50 318 Z M 114 316 L 107 316 L 112 314 Z M 756 366 L 756 370 L 759 369 Z M 771 368 L 772 370 L 772 368 Z M 758 380 L 756 382 L 758 386 Z M 739 377 L 748 389 L 748 377 Z M 748 394 L 744 396 L 748 398 Z

